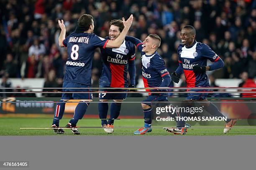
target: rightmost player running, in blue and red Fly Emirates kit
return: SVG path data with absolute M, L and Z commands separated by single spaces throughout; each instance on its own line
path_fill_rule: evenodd
M 195 40 L 196 30 L 193 26 L 185 26 L 181 33 L 180 39 L 181 44 L 178 47 L 179 55 L 179 67 L 175 72 L 171 74 L 172 80 L 176 83 L 179 82 L 179 76 L 184 72 L 186 77 L 187 87 L 209 87 L 209 80 L 206 75 L 207 70 L 217 70 L 224 66 L 223 60 L 214 52 L 212 49 L 203 43 Z M 212 65 L 207 66 L 207 60 L 214 62 Z M 189 90 L 198 91 L 199 93 L 189 93 L 186 100 L 201 100 L 207 101 L 207 93 L 200 93 L 202 91 L 207 92 L 208 90 Z M 191 102 L 184 102 L 183 107 L 191 107 Z M 223 117 L 223 114 L 218 110 L 211 102 L 206 102 L 205 110 L 211 115 Z M 185 113 L 181 113 L 181 116 Z M 225 124 L 224 133 L 227 133 L 236 120 L 227 119 Z M 177 122 L 177 128 L 167 128 L 166 131 L 171 133 L 183 134 L 182 127 L 184 127 L 184 121 Z

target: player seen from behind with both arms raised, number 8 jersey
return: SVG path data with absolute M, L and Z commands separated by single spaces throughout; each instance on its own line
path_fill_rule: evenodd
M 106 40 L 93 34 L 94 23 L 92 15 L 84 14 L 78 19 L 77 28 L 65 38 L 66 28 L 63 20 L 59 20 L 61 33 L 59 35 L 59 46 L 67 47 L 68 60 L 63 80 L 63 92 L 90 92 L 92 58 L 95 48 L 118 48 L 123 43 L 125 35 L 131 27 L 133 15 L 124 20 L 124 29 L 115 40 Z M 80 89 L 70 89 L 79 87 Z M 59 127 L 59 120 L 62 118 L 65 109 L 65 102 L 71 99 L 79 100 L 74 110 L 74 117 L 66 125 L 71 128 L 74 135 L 79 135 L 76 128 L 79 119 L 84 116 L 89 102 L 92 101 L 90 93 L 63 93 L 61 100 L 56 105 L 52 128 L 55 133 L 64 133 Z

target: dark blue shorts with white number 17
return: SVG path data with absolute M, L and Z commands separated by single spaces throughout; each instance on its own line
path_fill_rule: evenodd
M 99 93 L 99 99 L 100 100 L 125 100 L 126 97 L 127 97 L 127 93 L 109 93 L 109 92 L 127 92 L 127 90 L 122 90 L 122 89 L 100 89 L 100 91 L 101 91 Z

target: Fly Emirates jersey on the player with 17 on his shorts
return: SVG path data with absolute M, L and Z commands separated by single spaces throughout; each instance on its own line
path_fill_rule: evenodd
M 105 39 L 109 39 L 106 37 Z M 100 87 L 127 87 L 128 60 L 135 59 L 135 46 L 130 41 L 123 41 L 119 48 L 100 48 L 102 74 Z

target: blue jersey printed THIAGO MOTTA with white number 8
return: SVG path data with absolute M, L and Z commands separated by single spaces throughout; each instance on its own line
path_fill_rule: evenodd
M 63 82 L 76 82 L 90 86 L 95 48 L 105 48 L 108 41 L 86 32 L 72 32 L 67 36 L 63 41 L 68 53 Z

